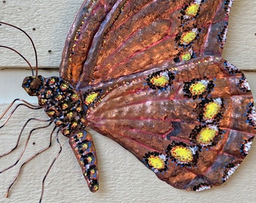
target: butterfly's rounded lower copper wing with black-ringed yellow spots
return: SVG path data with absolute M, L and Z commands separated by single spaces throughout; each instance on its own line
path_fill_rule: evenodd
M 252 96 L 245 76 L 224 59 L 177 65 L 85 90 L 88 125 L 172 186 L 208 189 L 224 183 L 248 153 Z

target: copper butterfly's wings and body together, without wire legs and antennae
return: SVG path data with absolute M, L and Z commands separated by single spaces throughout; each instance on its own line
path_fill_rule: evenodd
M 29 76 L 38 97 L 99 189 L 93 138 L 117 141 L 178 189 L 221 185 L 255 135 L 244 74 L 221 58 L 233 1 L 84 1 L 60 77 Z

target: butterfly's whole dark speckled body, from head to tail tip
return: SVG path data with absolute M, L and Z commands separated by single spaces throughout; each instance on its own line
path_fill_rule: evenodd
M 88 186 L 92 192 L 96 192 L 99 188 L 96 150 L 92 136 L 84 130 L 87 122 L 79 93 L 59 77 L 26 77 L 23 88 L 29 95 L 37 95 L 38 104 L 62 134 L 69 138 Z

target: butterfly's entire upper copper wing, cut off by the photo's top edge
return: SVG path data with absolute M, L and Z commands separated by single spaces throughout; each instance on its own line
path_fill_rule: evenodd
M 77 89 L 163 63 L 221 56 L 232 1 L 86 1 L 60 75 Z

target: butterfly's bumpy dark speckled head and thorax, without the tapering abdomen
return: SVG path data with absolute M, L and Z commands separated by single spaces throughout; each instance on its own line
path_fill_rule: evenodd
M 65 80 L 59 77 L 43 78 L 41 76 L 26 77 L 23 88 L 29 92 L 33 83 L 41 78 L 36 91 L 38 104 L 44 108 L 46 114 L 53 118 L 56 126 L 61 128 L 63 135 L 71 136 L 78 129 L 84 129 L 84 110 L 79 93 Z

